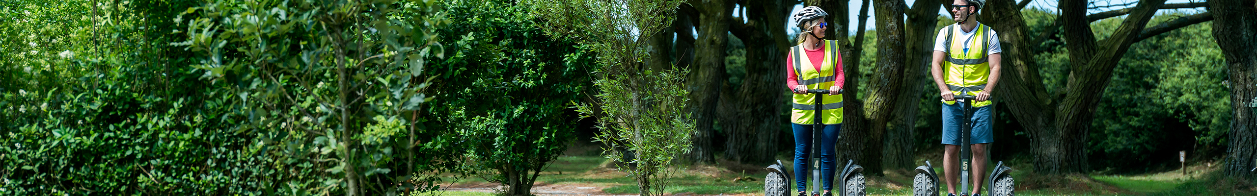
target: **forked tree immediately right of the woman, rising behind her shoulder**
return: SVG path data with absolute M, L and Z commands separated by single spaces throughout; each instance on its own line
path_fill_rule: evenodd
M 867 6 L 869 1 L 865 1 Z M 813 3 L 825 10 L 837 10 L 838 14 L 831 14 L 838 16 L 838 23 L 847 21 L 845 6 L 837 8 L 833 1 L 820 1 Z M 860 87 L 860 53 L 861 49 L 856 45 L 861 45 L 864 40 L 864 31 L 860 30 L 856 34 L 856 44 L 848 44 L 845 41 L 847 39 L 846 28 L 837 28 L 836 31 L 827 38 L 838 38 L 840 49 L 842 49 L 842 70 L 846 74 L 845 84 L 842 89 L 843 93 L 843 122 L 842 133 L 840 137 L 845 138 L 840 141 L 838 147 L 838 160 L 857 160 L 860 166 L 865 167 L 866 173 L 881 175 L 882 171 L 882 144 L 884 136 L 886 132 L 886 123 L 890 121 L 890 114 L 894 111 L 894 99 L 900 93 L 900 83 L 903 82 L 904 72 L 904 10 L 906 9 L 903 0 L 884 0 L 874 1 L 876 6 L 875 15 L 877 16 L 877 63 L 874 69 L 875 77 L 869 82 L 867 92 L 862 90 Z M 841 10 L 838 10 L 841 9 Z M 866 11 L 861 9 L 861 13 Z M 860 29 L 864 29 L 865 19 L 860 19 Z M 845 23 L 843 23 L 845 24 Z M 841 31 L 840 31 L 841 30 Z M 836 35 L 836 36 L 835 36 Z M 850 59 L 850 60 L 848 60 Z M 859 99 L 860 95 L 864 99 Z

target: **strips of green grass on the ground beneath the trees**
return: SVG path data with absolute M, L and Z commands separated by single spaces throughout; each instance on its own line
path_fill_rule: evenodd
M 606 158 L 597 156 L 562 156 L 556 162 L 553 162 L 542 176 L 537 178 L 538 183 L 546 185 L 573 185 L 573 186 L 596 186 L 602 187 L 606 193 L 613 195 L 636 195 L 637 185 L 632 177 L 626 176 L 623 172 L 610 171 L 608 168 L 598 168 Z M 788 163 L 787 163 L 788 165 Z M 940 165 L 935 165 L 935 172 L 943 175 Z M 749 167 L 749 166 L 742 166 Z M 1179 196 L 1179 195 L 1200 195 L 1200 196 L 1232 196 L 1232 195 L 1257 195 L 1251 191 L 1236 191 L 1246 190 L 1251 187 L 1247 182 L 1232 182 L 1226 180 L 1219 180 L 1219 177 L 1208 177 L 1208 173 L 1213 170 L 1200 170 L 1200 172 L 1190 175 L 1179 175 L 1178 172 L 1161 172 L 1161 173 L 1146 173 L 1139 176 L 1116 176 L 1116 175 L 1091 175 L 1091 176 L 1066 176 L 1056 178 L 1045 178 L 1038 175 L 1029 173 L 1029 166 L 1017 166 L 1014 167 L 1012 175 L 1017 180 L 1017 185 L 1028 183 L 1042 183 L 1036 187 L 1051 187 L 1051 188 L 1036 188 L 1036 190 L 1018 190 L 1018 196 Z M 683 171 L 675 177 L 666 181 L 666 192 L 669 193 L 694 193 L 694 195 L 762 195 L 763 193 L 763 177 L 764 172 L 758 171 L 752 173 L 750 170 L 747 173 L 730 172 L 725 168 L 701 166 L 691 167 L 688 171 Z M 1212 175 L 1218 176 L 1218 175 Z M 750 177 L 753 180 L 733 181 L 739 177 Z M 866 193 L 869 196 L 904 196 L 911 195 L 911 177 L 908 173 L 891 173 L 887 172 L 886 176 L 869 176 L 869 185 L 866 187 Z M 1038 178 L 1036 178 L 1038 177 Z M 480 178 L 465 178 L 464 183 L 471 182 L 484 182 Z M 836 182 L 837 183 L 837 182 Z M 1228 188 L 1216 188 L 1216 186 L 1231 186 Z M 1244 185 L 1244 186 L 1241 186 Z M 835 185 L 837 186 L 837 185 Z M 947 195 L 947 187 L 943 186 L 940 192 Z M 429 195 L 429 196 L 490 196 L 491 192 L 474 192 L 474 191 L 446 191 L 441 195 Z

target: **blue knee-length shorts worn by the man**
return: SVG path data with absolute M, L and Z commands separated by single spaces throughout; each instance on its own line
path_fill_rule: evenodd
M 955 104 L 943 104 L 943 144 L 960 144 L 960 124 L 964 123 L 964 108 L 957 102 Z M 974 107 L 973 112 L 973 131 L 969 132 L 969 144 L 977 143 L 992 143 L 996 142 L 994 136 L 991 134 L 991 106 Z

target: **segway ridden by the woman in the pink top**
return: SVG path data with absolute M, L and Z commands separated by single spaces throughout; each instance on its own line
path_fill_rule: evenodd
M 830 94 L 827 89 L 808 89 L 807 93 L 813 93 L 816 95 L 816 103 L 812 106 L 815 111 L 815 121 L 812 122 L 812 156 L 808 162 L 812 165 L 812 196 L 821 196 L 821 132 L 823 123 L 821 123 L 821 94 Z M 842 90 L 838 90 L 841 94 Z M 842 137 L 838 137 L 840 139 Z M 789 172 L 786 171 L 784 165 L 781 160 L 777 160 L 776 165 L 768 166 L 768 176 L 764 177 L 764 196 L 791 196 L 789 190 Z M 864 167 L 855 165 L 854 160 L 847 160 L 847 166 L 842 167 L 841 177 L 842 183 L 838 183 L 838 196 L 864 196 L 865 195 L 865 178 Z

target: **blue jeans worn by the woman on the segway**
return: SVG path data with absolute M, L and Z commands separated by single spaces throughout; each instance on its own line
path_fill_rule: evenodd
M 798 185 L 798 191 L 804 191 L 807 176 L 812 175 L 812 167 L 808 166 L 811 163 L 808 158 L 812 153 L 810 150 L 812 124 L 791 123 L 791 128 L 794 131 L 794 183 Z M 825 182 L 825 190 L 833 190 L 833 172 L 837 170 L 833 144 L 837 144 L 841 131 L 842 124 L 830 124 L 825 126 L 821 132 L 821 178 Z

